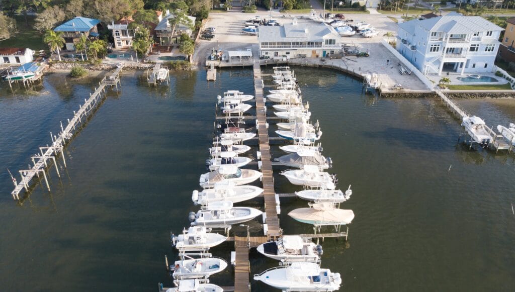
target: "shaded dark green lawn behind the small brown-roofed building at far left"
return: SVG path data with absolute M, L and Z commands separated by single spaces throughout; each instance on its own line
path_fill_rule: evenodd
M 48 50 L 48 46 L 43 43 L 43 35 L 39 31 L 32 29 L 34 24 L 33 17 L 28 16 L 29 27 L 25 24 L 23 16 L 14 16 L 14 19 L 16 20 L 16 27 L 20 32 L 11 36 L 11 38 L 7 40 L 0 42 L 0 47 L 21 47 L 33 50 Z

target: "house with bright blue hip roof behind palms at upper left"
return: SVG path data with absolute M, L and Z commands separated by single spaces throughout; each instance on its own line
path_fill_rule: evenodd
M 89 38 L 98 38 L 97 25 L 99 23 L 100 21 L 97 19 L 77 16 L 54 28 L 54 31 L 64 32 L 64 48 L 66 50 L 75 50 L 74 44 L 80 36 L 85 35 Z

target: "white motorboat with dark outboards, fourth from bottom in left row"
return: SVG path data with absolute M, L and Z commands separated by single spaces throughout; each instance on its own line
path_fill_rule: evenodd
M 233 207 L 231 201 L 208 203 L 208 209 L 199 210 L 197 214 L 190 212 L 188 219 L 197 226 L 228 226 L 247 222 L 263 214 L 250 207 Z

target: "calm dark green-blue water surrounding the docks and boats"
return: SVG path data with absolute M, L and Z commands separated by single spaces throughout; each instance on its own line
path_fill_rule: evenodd
M 379 99 L 345 75 L 295 71 L 312 118 L 320 119 L 331 172 L 340 188 L 352 184 L 353 197 L 342 205 L 356 214 L 349 241 L 323 243 L 322 266 L 342 274 L 340 290 L 515 290 L 513 154 L 457 145 L 459 120 L 436 99 Z M 172 74 L 169 90 L 124 75 L 123 91 L 109 94 L 66 148 L 62 178 L 50 169 L 52 192 L 36 185 L 22 203 L 14 202 L 5 168 L 14 172 L 29 163 L 95 80 L 66 82 L 54 74 L 45 76 L 38 93 L 0 92 L 2 290 L 155 291 L 158 282 L 170 285 L 163 256 L 176 258 L 169 232 L 180 232 L 196 210 L 191 191 L 205 171 L 216 95 L 252 91 L 250 70 L 224 71 L 216 83 L 205 82 L 204 71 Z M 515 121 L 511 100 L 461 103 L 489 125 Z M 272 154 L 283 153 L 276 147 Z M 278 193 L 296 190 L 276 176 Z M 262 199 L 245 205 L 260 208 Z M 287 216 L 304 206 L 282 200 L 285 233 L 312 232 Z M 250 223 L 252 233 L 261 234 L 259 222 Z M 225 244 L 213 253 L 228 259 L 230 250 Z M 252 273 L 276 265 L 255 252 L 251 264 Z M 232 285 L 232 272 L 211 282 Z

